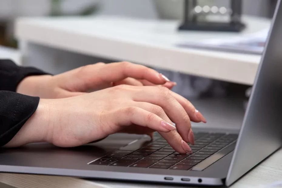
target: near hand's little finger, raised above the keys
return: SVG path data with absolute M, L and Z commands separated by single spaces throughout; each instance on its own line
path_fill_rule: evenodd
M 176 130 L 176 127 L 166 122 L 156 114 L 136 106 L 121 109 L 121 112 L 117 113 L 114 121 L 117 121 L 120 126 L 130 126 L 132 124 L 136 124 L 160 132 L 170 132 L 172 130 Z

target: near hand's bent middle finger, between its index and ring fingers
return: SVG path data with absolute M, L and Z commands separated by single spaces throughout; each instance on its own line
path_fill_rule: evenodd
M 176 128 L 184 141 L 194 144 L 194 134 L 190 118 L 180 103 L 165 87 L 143 86 L 132 90 L 134 101 L 149 102 L 163 108 L 166 115 L 176 124 Z

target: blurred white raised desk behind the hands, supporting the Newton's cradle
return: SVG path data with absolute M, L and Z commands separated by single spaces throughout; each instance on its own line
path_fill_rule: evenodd
M 15 32 L 24 44 L 21 47 L 24 57 L 37 56 L 37 59 L 29 58 L 29 64 L 39 68 L 53 66 L 58 70 L 58 64 L 63 61 L 71 68 L 75 64 L 73 59 L 93 63 L 89 57 L 96 56 L 252 85 L 260 55 L 176 47 L 183 41 L 228 38 L 270 25 L 270 20 L 265 18 L 244 17 L 243 21 L 247 23 L 247 29 L 242 33 L 214 33 L 178 32 L 178 21 L 114 17 L 21 18 L 16 22 Z M 54 49 L 64 52 L 58 53 Z

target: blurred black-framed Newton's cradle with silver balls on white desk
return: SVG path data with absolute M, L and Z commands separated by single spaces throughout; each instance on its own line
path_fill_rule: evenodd
M 227 0 L 226 0 L 227 1 Z M 199 6 L 197 0 L 184 0 L 184 22 L 179 30 L 240 32 L 245 28 L 241 22 L 242 0 L 228 0 L 230 8 Z M 228 21 L 208 21 L 207 15 L 228 16 Z

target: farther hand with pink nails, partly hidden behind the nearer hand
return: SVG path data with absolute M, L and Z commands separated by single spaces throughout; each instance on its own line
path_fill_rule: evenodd
M 45 99 L 65 98 L 117 85 L 156 86 L 172 89 L 176 85 L 157 71 L 129 62 L 96 63 L 55 76 L 29 76 L 17 92 Z

